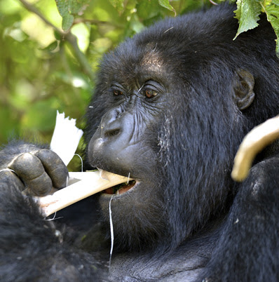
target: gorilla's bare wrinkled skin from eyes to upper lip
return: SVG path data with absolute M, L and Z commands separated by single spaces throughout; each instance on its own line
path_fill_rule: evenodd
M 109 94 L 120 96 L 118 106 L 110 109 L 102 116 L 100 126 L 90 140 L 90 163 L 106 166 L 120 175 L 142 179 L 154 175 L 156 160 L 151 157 L 158 141 L 152 133 L 156 133 L 158 114 L 161 112 L 157 97 L 163 93 L 161 85 L 148 81 L 142 89 L 125 94 L 121 86 L 111 86 Z M 124 92 L 125 91 L 125 92 Z M 161 91 L 161 93 L 159 92 Z M 149 97 L 147 96 L 149 95 Z M 154 97 L 151 97 L 154 95 Z M 154 138 L 155 137 L 155 138 Z

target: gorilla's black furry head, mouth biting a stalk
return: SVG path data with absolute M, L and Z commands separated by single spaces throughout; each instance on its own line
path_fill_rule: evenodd
M 100 194 L 119 248 L 175 247 L 228 208 L 233 156 L 262 103 L 254 76 L 266 72 L 253 36 L 233 41 L 233 9 L 158 22 L 102 60 L 86 154 L 90 167 L 132 179 Z

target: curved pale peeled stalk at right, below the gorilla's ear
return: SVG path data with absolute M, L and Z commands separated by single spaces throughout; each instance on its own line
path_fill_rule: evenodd
M 248 133 L 234 159 L 231 177 L 241 182 L 247 177 L 254 157 L 279 137 L 279 116 L 268 119 Z

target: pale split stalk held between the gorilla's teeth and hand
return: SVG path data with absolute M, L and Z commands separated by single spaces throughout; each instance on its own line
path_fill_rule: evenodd
M 104 189 L 127 182 L 128 177 L 109 173 L 107 171 L 93 171 L 86 173 L 69 173 L 73 184 L 57 190 L 52 195 L 38 197 L 39 206 L 48 216 L 77 201 L 87 198 Z

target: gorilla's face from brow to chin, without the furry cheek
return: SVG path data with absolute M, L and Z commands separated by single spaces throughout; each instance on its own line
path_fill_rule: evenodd
M 88 144 L 90 166 L 125 175 L 136 182 L 128 191 L 128 188 L 120 190 L 121 194 L 100 195 L 107 226 L 112 197 L 116 248 L 129 250 L 144 248 L 143 241 L 147 247 L 158 241 L 161 234 L 166 235 L 158 126 L 168 94 L 163 83 L 153 79 L 152 74 L 161 72 L 158 62 L 154 67 L 145 57 L 140 65 L 144 75 L 132 76 L 137 80 L 121 81 L 111 75 L 102 83 L 108 87 L 96 91 L 92 112 L 94 115 L 95 105 L 103 103 L 103 116 Z

